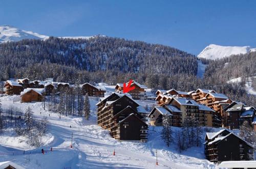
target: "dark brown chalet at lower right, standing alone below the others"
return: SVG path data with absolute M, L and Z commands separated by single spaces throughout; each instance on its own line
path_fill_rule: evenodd
M 207 132 L 205 155 L 211 162 L 253 160 L 253 147 L 228 130 Z

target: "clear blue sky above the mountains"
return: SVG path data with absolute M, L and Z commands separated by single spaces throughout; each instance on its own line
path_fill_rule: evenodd
M 198 54 L 256 47 L 256 1 L 0 1 L 0 25 L 48 36 L 106 35 Z

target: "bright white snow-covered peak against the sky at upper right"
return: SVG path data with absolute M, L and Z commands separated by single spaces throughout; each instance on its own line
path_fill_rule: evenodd
M 220 46 L 210 44 L 198 54 L 198 58 L 216 60 L 224 57 L 229 57 L 232 54 L 245 54 L 251 51 L 256 51 L 256 48 L 250 46 Z

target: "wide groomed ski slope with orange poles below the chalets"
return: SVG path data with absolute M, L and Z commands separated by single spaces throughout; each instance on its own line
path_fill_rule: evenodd
M 92 117 L 89 121 L 74 116 L 61 116 L 59 119 L 58 114 L 43 110 L 40 102 L 20 103 L 19 96 L 4 96 L 0 97 L 0 100 L 3 108 L 15 106 L 25 110 L 30 106 L 36 119 L 46 116 L 50 123 L 49 142 L 45 143 L 45 146 L 34 148 L 19 142 L 2 142 L 0 162 L 11 160 L 26 168 L 216 168 L 214 163 L 205 159 L 203 145 L 182 153 L 179 153 L 175 146 L 166 147 L 161 139 L 161 127 L 150 127 L 147 143 L 115 140 L 109 131 L 96 125 L 95 104 L 98 98 L 90 98 Z M 73 148 L 70 148 L 72 132 Z M 0 136 L 0 140 L 2 137 Z M 15 139 L 13 134 L 9 137 Z M 41 148 L 46 150 L 46 154 L 41 154 Z

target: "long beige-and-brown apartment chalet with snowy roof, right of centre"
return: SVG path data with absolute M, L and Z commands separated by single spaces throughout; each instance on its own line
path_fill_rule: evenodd
M 182 123 L 185 117 L 194 117 L 198 120 L 200 126 L 217 127 L 214 122 L 215 110 L 197 103 L 195 100 L 185 98 L 172 98 L 168 104 L 171 104 L 182 111 Z

